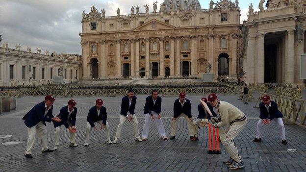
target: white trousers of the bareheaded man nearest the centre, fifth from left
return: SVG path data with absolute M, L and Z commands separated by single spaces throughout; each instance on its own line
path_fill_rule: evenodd
M 158 119 L 158 114 L 154 111 L 152 111 L 152 115 L 155 117 L 155 123 L 157 126 L 157 131 L 160 137 L 166 137 L 166 131 L 164 127 L 164 123 L 161 121 L 161 118 Z M 150 129 L 150 121 L 151 116 L 149 114 L 145 114 L 145 123 L 142 129 L 142 138 L 147 139 L 149 135 L 149 129 Z

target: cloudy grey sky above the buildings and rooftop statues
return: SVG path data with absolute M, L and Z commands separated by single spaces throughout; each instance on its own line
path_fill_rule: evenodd
M 49 49 L 50 53 L 77 53 L 81 54 L 80 37 L 82 26 L 82 11 L 90 12 L 92 5 L 99 12 L 104 8 L 106 16 L 116 15 L 116 9 L 121 14 L 129 14 L 130 7 L 139 5 L 140 12 L 145 12 L 144 4 L 149 3 L 149 12 L 153 11 L 152 4 L 159 4 L 164 0 L 0 0 L 0 34 L 2 42 L 8 42 L 9 48 L 16 44 L 26 50 L 31 46 L 36 52 L 39 47 L 42 53 Z M 210 0 L 199 0 L 203 9 L 209 8 Z M 215 2 L 217 0 L 214 0 Z M 220 1 L 220 0 L 219 0 Z M 235 0 L 233 0 L 235 1 Z M 250 3 L 257 11 L 259 0 L 239 0 L 241 19 L 247 19 Z

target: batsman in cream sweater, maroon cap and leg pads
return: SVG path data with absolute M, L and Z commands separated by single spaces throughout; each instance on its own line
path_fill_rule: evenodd
M 220 101 L 216 94 L 210 94 L 208 96 L 208 101 L 213 107 L 216 108 L 221 117 L 221 121 L 219 121 L 216 117 L 210 118 L 213 126 L 215 128 L 222 126 L 228 127 L 226 130 L 220 129 L 220 140 L 230 154 L 229 160 L 223 163 L 229 165 L 228 169 L 242 169 L 244 164 L 241 156 L 238 154 L 238 149 L 233 140 L 246 126 L 246 116 L 232 104 L 226 101 Z

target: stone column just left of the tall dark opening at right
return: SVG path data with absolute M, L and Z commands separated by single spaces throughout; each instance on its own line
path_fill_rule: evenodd
M 257 50 L 257 69 L 255 69 L 257 73 L 257 81 L 256 83 L 264 83 L 264 34 L 258 35 L 258 50 Z

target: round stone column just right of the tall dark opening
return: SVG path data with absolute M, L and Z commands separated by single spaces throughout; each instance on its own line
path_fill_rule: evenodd
M 288 33 L 288 47 L 287 47 L 287 59 L 286 59 L 286 83 L 294 83 L 294 30 L 287 31 Z

